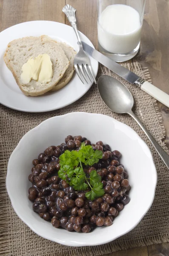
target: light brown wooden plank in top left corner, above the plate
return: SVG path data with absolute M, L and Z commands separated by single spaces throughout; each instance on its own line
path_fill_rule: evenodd
M 4 0 L 1 30 L 30 20 L 54 20 L 64 23 L 64 5 L 65 0 Z

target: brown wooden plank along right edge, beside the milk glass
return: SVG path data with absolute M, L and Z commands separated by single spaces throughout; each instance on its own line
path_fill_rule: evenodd
M 148 67 L 152 83 L 169 94 L 169 1 L 146 1 L 145 20 L 139 54 L 134 61 Z M 169 108 L 158 104 L 166 128 L 166 140 L 169 145 Z

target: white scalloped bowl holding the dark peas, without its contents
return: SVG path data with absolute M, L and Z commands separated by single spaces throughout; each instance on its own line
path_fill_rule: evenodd
M 28 199 L 31 183 L 28 176 L 32 160 L 50 145 L 60 145 L 67 135 L 82 135 L 92 143 L 102 140 L 119 150 L 121 163 L 129 173 L 131 198 L 112 226 L 97 227 L 92 233 L 68 232 L 56 229 L 32 210 Z M 27 132 L 14 149 L 8 163 L 6 188 L 17 215 L 43 238 L 69 246 L 105 244 L 132 230 L 152 205 L 157 172 L 152 154 L 143 140 L 129 126 L 117 120 L 91 113 L 69 113 L 45 120 Z

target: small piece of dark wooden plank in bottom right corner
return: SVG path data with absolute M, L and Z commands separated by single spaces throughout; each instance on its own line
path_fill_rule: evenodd
M 148 246 L 149 256 L 169 256 L 169 243 Z

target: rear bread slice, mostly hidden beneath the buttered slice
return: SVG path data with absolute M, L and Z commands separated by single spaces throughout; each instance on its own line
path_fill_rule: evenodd
M 68 60 L 70 61 L 69 67 L 66 70 L 66 72 L 64 73 L 63 78 L 60 79 L 60 81 L 51 90 L 52 92 L 55 92 L 55 91 L 60 90 L 61 88 L 63 88 L 66 84 L 68 84 L 70 79 L 72 78 L 73 73 L 74 73 L 74 56 L 76 55 L 76 52 L 68 44 L 62 43 L 62 42 L 57 42 L 57 41 L 53 40 L 52 38 L 50 38 L 47 35 L 42 35 L 41 39 L 42 39 L 43 42 L 53 41 L 56 44 L 58 44 L 60 47 L 62 47 L 63 51 L 65 52 L 65 54 L 68 58 Z

